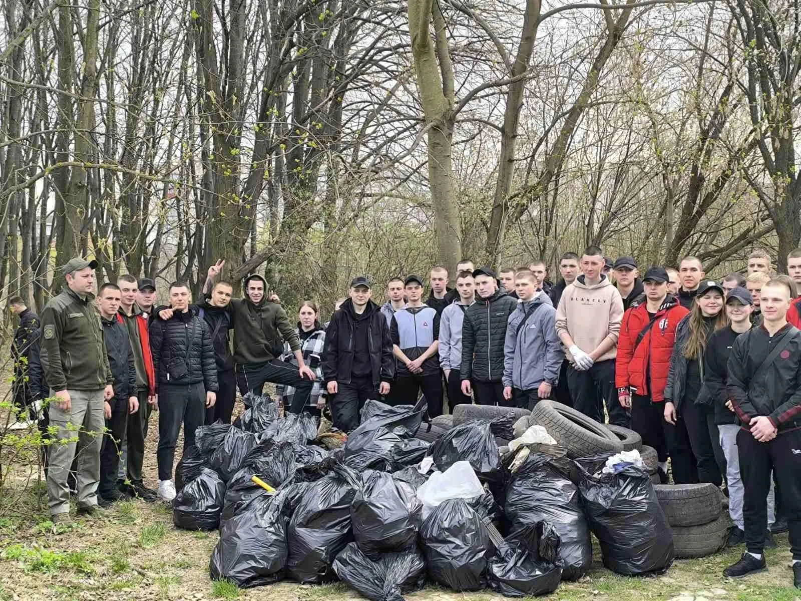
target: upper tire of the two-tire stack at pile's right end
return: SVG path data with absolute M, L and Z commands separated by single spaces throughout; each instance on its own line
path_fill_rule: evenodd
M 702 526 L 723 512 L 723 495 L 714 484 L 662 484 L 654 486 L 656 498 L 670 526 Z

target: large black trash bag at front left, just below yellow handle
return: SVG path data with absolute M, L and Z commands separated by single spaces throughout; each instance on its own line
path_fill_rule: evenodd
M 284 577 L 289 555 L 287 526 L 292 513 L 289 497 L 289 490 L 265 495 L 222 522 L 208 567 L 212 580 L 228 579 L 246 588 Z

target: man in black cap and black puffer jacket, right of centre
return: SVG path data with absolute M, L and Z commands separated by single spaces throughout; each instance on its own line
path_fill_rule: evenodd
M 474 393 L 479 405 L 514 406 L 503 394 L 506 325 L 517 300 L 500 285 L 495 272 L 481 267 L 473 272 L 476 302 L 465 311 L 461 326 L 461 392 Z

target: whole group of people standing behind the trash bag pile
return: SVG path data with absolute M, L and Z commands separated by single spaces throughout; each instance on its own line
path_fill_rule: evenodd
M 209 268 L 199 302 L 173 282 L 158 307 L 154 282 L 132 276 L 102 284 L 95 299 L 97 265 L 76 258 L 41 320 L 10 301 L 20 317 L 15 394 L 21 406 L 52 399 L 54 522 L 69 519 L 70 472 L 80 513 L 124 496 L 174 498 L 181 426 L 187 448 L 203 423 L 231 422 L 236 389 L 261 393 L 272 382 L 285 410 L 328 406 L 344 432 L 359 426 L 369 398 L 408 404 L 422 393 L 430 417 L 445 397 L 451 410 L 553 399 L 635 430 L 657 450 L 662 482 L 670 460 L 674 483 L 726 483 L 729 543 L 747 545 L 727 575 L 763 569 L 771 527 L 788 527 L 801 586 L 801 249 L 787 258 L 789 277 L 771 263 L 755 251 L 746 275 L 708 280 L 688 256 L 641 276 L 633 257 L 613 261 L 590 246 L 560 257 L 554 285 L 542 261 L 496 273 L 464 260 L 454 288 L 434 267 L 425 279 L 392 278 L 377 305 L 372 282 L 358 276 L 330 321 L 306 300 L 292 325 L 261 276 L 247 276 L 244 297 L 232 298 L 218 280 L 223 261 Z M 155 409 L 157 491 L 142 478 Z

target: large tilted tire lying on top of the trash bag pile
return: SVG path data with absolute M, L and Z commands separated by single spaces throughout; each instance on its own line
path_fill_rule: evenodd
M 601 453 L 620 453 L 623 444 L 616 434 L 584 413 L 557 403 L 542 400 L 531 410 L 534 423 L 547 430 L 570 458 Z

